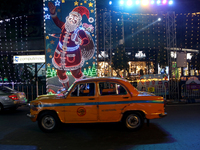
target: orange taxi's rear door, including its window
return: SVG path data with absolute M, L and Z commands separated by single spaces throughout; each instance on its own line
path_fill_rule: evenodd
M 98 82 L 99 120 L 119 121 L 122 109 L 128 105 L 130 94 L 126 88 L 115 82 Z

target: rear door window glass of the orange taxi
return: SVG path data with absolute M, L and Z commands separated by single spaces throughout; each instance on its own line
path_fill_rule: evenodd
M 126 89 L 117 83 L 113 82 L 100 82 L 99 83 L 100 95 L 126 95 Z

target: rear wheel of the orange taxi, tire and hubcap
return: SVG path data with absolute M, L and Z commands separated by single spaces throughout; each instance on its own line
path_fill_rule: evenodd
M 123 123 L 126 129 L 131 131 L 139 130 L 144 124 L 144 118 L 140 113 L 131 112 L 125 114 Z

